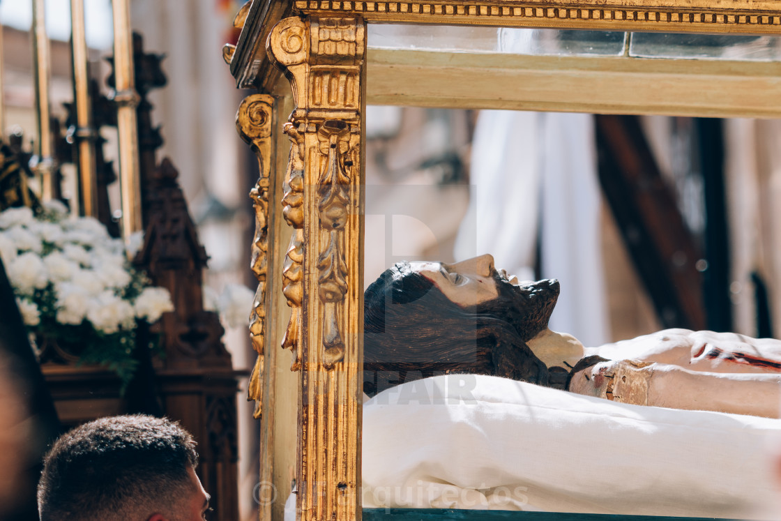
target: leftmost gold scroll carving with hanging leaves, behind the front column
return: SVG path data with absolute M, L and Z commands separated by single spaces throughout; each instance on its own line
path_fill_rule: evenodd
M 242 100 L 236 113 L 236 129 L 251 146 L 258 158 L 259 177 L 249 193 L 255 208 L 255 237 L 251 244 L 252 273 L 258 279 L 258 289 L 252 302 L 249 335 L 252 348 L 258 354 L 249 378 L 247 399 L 255 401 L 253 416 L 262 414 L 261 376 L 266 351 L 266 281 L 269 267 L 269 183 L 271 176 L 271 129 L 273 98 L 269 95 L 250 95 Z

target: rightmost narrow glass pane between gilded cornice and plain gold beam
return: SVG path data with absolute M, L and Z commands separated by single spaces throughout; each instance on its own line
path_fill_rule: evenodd
M 726 34 L 633 33 L 629 55 L 637 58 L 776 61 L 781 38 Z

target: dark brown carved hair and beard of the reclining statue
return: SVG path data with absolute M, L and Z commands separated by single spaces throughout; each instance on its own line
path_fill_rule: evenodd
M 490 374 L 547 385 L 548 370 L 526 341 L 547 327 L 555 298 L 544 319 L 515 327 L 508 315 L 529 312 L 517 309 L 517 295 L 495 277 L 499 298 L 462 308 L 408 262 L 387 269 L 364 298 L 364 391 L 373 395 L 437 373 Z

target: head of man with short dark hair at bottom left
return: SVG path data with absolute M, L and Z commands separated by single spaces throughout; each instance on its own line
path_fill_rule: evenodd
M 63 434 L 38 484 L 41 521 L 197 521 L 209 495 L 192 436 L 153 416 L 97 419 Z

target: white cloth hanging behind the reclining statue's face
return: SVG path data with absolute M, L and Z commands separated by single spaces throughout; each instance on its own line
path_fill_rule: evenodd
M 455 259 L 490 253 L 530 280 L 540 237 L 542 276 L 562 283 L 551 329 L 586 345 L 610 341 L 592 116 L 480 112 L 470 175 Z

